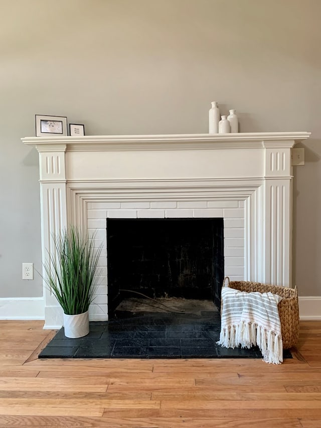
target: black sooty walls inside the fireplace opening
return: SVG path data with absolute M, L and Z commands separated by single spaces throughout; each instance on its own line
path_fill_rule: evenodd
M 222 218 L 107 219 L 109 317 L 134 292 L 219 306 L 223 230 Z

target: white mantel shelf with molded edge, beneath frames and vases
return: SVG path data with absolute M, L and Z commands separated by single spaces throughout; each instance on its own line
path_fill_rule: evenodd
M 229 134 L 90 135 L 25 137 L 39 152 L 123 150 L 206 150 L 293 147 L 310 132 L 243 132 Z M 195 145 L 197 143 L 197 146 Z

